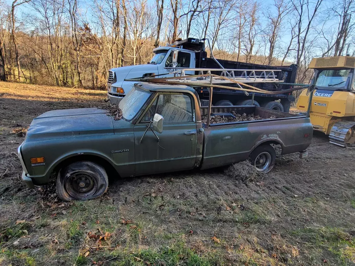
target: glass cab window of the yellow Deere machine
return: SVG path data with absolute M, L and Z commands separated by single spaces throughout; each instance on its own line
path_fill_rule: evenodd
M 327 87 L 327 89 L 336 90 L 339 88 L 344 88 L 346 80 L 350 70 L 323 70 L 319 73 L 316 86 L 317 87 Z

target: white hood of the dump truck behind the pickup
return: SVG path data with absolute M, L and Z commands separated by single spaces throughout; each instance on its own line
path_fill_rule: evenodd
M 146 73 L 158 74 L 158 66 L 152 64 L 124 66 L 112 68 L 111 71 L 114 71 L 116 73 L 116 84 L 121 86 L 125 78 L 139 78 Z

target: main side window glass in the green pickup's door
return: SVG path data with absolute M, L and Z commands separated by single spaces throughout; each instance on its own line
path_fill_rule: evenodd
M 161 94 L 157 113 L 164 117 L 164 123 L 193 121 L 191 99 L 187 95 Z

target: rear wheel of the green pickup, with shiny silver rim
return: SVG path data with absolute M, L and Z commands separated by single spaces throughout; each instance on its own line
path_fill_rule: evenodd
M 252 165 L 255 165 L 256 171 L 268 173 L 274 167 L 276 153 L 271 145 L 261 145 L 255 148 L 249 156 Z

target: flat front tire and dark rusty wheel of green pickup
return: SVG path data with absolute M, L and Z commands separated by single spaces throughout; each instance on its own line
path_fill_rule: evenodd
M 62 200 L 94 199 L 108 188 L 105 169 L 91 161 L 73 162 L 60 169 L 56 192 Z

